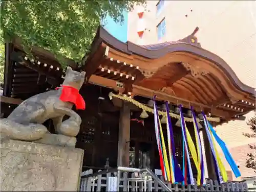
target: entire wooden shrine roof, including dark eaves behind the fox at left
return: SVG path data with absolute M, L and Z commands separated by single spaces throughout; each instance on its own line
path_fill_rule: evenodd
M 225 120 L 254 110 L 254 88 L 244 85 L 223 59 L 201 47 L 197 30 L 178 41 L 137 45 L 123 43 L 99 27 L 84 65 L 79 68 L 70 59 L 67 63 L 86 71 L 89 83 L 145 98 L 156 94 L 158 100 L 191 105 Z M 50 52 L 33 47 L 36 61 L 30 61 L 24 54 L 18 58 L 22 52 L 18 42 L 7 48 L 4 96 L 26 99 L 30 94 L 20 95 L 62 83 L 65 71 Z

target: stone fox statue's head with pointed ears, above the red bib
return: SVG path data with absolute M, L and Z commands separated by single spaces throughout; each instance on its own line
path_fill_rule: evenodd
M 85 77 L 85 71 L 79 73 L 78 71 L 72 70 L 71 67 L 67 67 L 65 80 L 63 81 L 62 85 L 68 85 L 79 90 L 83 85 Z

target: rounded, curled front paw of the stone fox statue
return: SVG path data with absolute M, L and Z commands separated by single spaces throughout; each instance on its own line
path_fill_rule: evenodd
M 58 133 L 66 136 L 75 137 L 80 129 L 80 122 L 77 122 L 75 118 L 70 117 L 66 121 L 63 121 L 58 129 Z

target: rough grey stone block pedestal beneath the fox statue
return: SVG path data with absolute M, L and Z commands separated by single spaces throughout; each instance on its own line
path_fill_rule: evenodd
M 83 150 L 2 139 L 1 191 L 78 191 Z

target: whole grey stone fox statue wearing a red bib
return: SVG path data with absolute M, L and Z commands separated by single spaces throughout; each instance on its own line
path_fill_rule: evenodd
M 81 117 L 72 110 L 72 107 L 73 104 L 77 106 L 76 100 L 82 100 L 78 103 L 83 102 L 84 106 L 80 108 L 85 109 L 85 103 L 78 92 L 85 75 L 84 71 L 79 73 L 72 70 L 71 67 L 67 67 L 62 86 L 57 90 L 36 94 L 22 102 L 7 118 L 1 119 L 1 133 L 12 139 L 34 141 L 42 138 L 48 132 L 42 123 L 47 119 L 52 119 L 58 134 L 76 136 L 79 132 Z M 71 95 L 72 91 L 77 94 L 75 95 L 77 97 Z M 70 98 L 73 100 L 69 101 Z M 70 118 L 62 122 L 64 115 L 68 115 Z

